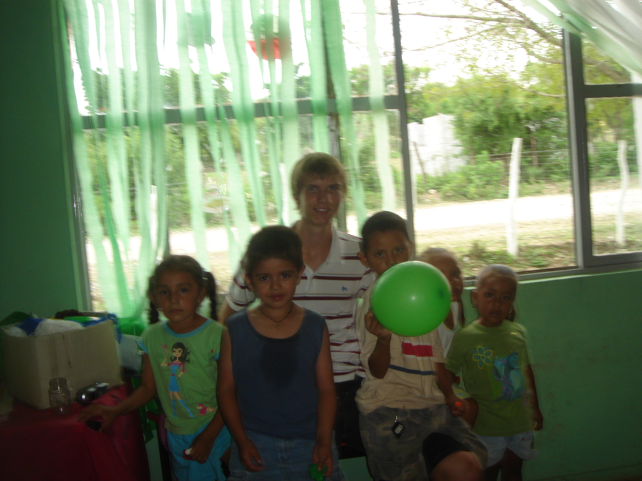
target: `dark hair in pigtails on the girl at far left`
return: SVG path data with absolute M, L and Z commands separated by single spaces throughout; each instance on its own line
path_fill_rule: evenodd
M 168 271 L 186 272 L 192 275 L 198 286 L 198 290 L 205 289 L 205 294 L 209 298 L 211 308 L 209 317 L 216 321 L 216 280 L 214 280 L 212 273 L 204 271 L 203 267 L 196 262 L 196 259 L 189 257 L 189 255 L 169 255 L 154 269 L 154 273 L 150 277 L 148 294 L 154 294 L 158 278 L 161 274 Z M 158 321 L 159 311 L 156 305 L 150 301 L 150 324 L 155 324 Z

